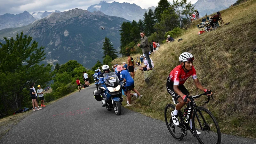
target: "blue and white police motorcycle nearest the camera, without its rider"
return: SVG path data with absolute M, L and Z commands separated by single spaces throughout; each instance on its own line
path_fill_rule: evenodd
M 123 101 L 121 84 L 115 72 L 103 74 L 104 81 L 100 81 L 99 90 L 93 92 L 97 101 L 102 100 L 108 111 L 114 109 L 117 116 L 121 114 Z M 104 106 L 103 106 L 104 107 Z

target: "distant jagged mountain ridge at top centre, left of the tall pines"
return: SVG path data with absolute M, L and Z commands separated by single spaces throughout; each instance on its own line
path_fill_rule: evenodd
M 121 17 L 126 20 L 136 20 L 139 21 L 140 19 L 143 20 L 143 15 L 149 9 L 155 10 L 155 7 L 149 7 L 148 9 L 142 9 L 140 6 L 136 4 L 130 3 L 107 3 L 106 1 L 100 1 L 99 4 L 94 4 L 88 7 L 87 11 L 94 12 L 100 11 L 106 15 Z

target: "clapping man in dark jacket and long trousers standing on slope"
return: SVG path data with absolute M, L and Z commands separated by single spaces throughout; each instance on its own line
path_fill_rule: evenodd
M 148 38 L 145 36 L 145 33 L 143 31 L 140 32 L 140 36 L 141 36 L 140 44 L 137 44 L 137 46 L 139 46 L 142 49 L 142 52 L 146 55 L 146 58 L 149 63 L 148 70 L 151 70 L 152 66 L 151 66 L 151 62 L 150 62 L 150 58 L 149 58 L 149 54 L 148 54 L 148 52 L 150 52 L 150 47 L 148 45 Z

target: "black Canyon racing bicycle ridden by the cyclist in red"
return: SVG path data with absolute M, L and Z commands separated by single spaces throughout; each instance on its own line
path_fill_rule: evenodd
M 178 101 L 173 100 L 173 104 L 168 104 L 164 109 L 164 119 L 167 125 L 169 132 L 176 140 L 182 140 L 184 135 L 188 134 L 188 130 L 193 134 L 194 137 L 201 144 L 220 144 L 221 135 L 220 135 L 220 127 L 216 118 L 212 115 L 212 113 L 204 107 L 197 107 L 194 99 L 199 98 L 202 95 L 206 95 L 207 93 L 203 93 L 195 96 L 188 96 L 191 100 L 188 102 L 186 111 L 184 113 L 181 111 L 178 112 L 179 123 L 177 126 L 172 122 L 172 111 L 175 109 L 175 105 Z M 212 97 L 212 96 L 211 96 Z M 212 97 L 213 99 L 213 97 Z M 208 96 L 208 100 L 205 103 L 210 101 L 210 96 Z M 192 115 L 193 114 L 193 115 Z M 189 126 L 189 121 L 192 116 L 192 129 Z M 197 134 L 196 130 L 201 132 L 201 134 Z

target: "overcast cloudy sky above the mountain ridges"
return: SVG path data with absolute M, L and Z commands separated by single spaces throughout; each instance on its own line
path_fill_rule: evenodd
M 123 3 L 134 3 L 141 8 L 147 9 L 151 6 L 157 6 L 158 0 L 105 0 L 108 3 L 113 1 Z M 172 0 L 168 0 L 172 2 Z M 192 4 L 197 0 L 188 0 Z M 87 10 L 90 5 L 99 4 L 100 0 L 0 0 L 0 15 L 5 13 L 19 14 L 28 11 L 30 14 L 33 12 L 55 11 L 61 12 L 68 11 L 73 8 L 81 8 Z

